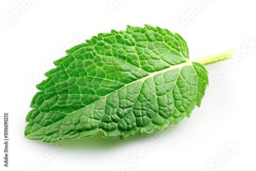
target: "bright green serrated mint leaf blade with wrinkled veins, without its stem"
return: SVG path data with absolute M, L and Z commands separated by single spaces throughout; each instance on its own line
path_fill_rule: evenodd
M 162 131 L 200 106 L 208 84 L 185 40 L 159 27 L 100 33 L 66 52 L 36 86 L 29 139 L 55 142 L 99 131 L 125 139 Z

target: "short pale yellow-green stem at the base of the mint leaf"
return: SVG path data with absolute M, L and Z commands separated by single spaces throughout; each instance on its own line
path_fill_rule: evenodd
M 225 52 L 221 52 L 215 55 L 207 56 L 201 59 L 196 60 L 196 62 L 202 63 L 203 65 L 209 65 L 211 63 L 219 62 L 222 60 L 230 59 L 232 58 L 232 54 L 235 51 L 235 49 L 231 49 Z

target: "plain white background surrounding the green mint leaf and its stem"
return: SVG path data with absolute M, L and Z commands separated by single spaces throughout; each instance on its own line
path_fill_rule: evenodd
M 22 7 L 24 1 L 0 3 L 0 130 L 4 112 L 10 115 L 10 158 L 5 170 L 256 169 L 256 12 L 252 1 L 205 0 L 197 13 L 191 6 L 199 5 L 199 0 L 31 0 L 26 8 Z M 45 79 L 42 74 L 53 67 L 54 60 L 97 33 L 143 24 L 181 34 L 191 60 L 237 48 L 237 58 L 207 66 L 210 87 L 189 119 L 161 134 L 127 140 L 98 134 L 49 144 L 24 138 L 25 117 L 37 91 L 34 86 Z M 250 47 L 247 41 L 254 45 Z

